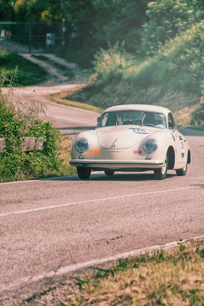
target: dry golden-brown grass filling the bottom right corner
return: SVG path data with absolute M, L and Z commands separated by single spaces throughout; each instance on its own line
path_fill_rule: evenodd
M 199 245 L 203 248 L 203 242 Z M 204 305 L 204 250 L 198 251 L 198 244 L 184 248 L 147 263 L 131 260 L 129 268 L 99 284 L 89 278 L 83 293 L 67 305 Z

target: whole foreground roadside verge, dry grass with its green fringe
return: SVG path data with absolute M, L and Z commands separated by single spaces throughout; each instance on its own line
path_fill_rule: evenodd
M 204 305 L 203 239 L 178 243 L 168 251 L 120 259 L 108 269 L 71 276 L 31 306 L 46 305 Z M 67 285 L 69 286 L 67 287 Z M 65 290 L 66 288 L 66 290 Z

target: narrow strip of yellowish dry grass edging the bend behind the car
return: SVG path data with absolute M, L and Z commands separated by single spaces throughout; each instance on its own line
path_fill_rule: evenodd
M 73 92 L 75 89 L 71 90 L 70 92 Z M 60 93 L 54 93 L 49 96 L 49 99 L 51 101 L 54 101 L 59 104 L 75 107 L 75 108 L 80 108 L 86 111 L 91 111 L 95 113 L 101 114 L 103 112 L 103 109 L 88 103 L 83 103 L 79 101 L 73 101 L 67 99 L 67 92 L 60 92 Z

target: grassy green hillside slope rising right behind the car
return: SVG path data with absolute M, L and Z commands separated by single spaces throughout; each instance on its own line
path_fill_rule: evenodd
M 183 126 L 203 125 L 203 30 L 203 24 L 194 25 L 144 61 L 118 44 L 101 49 L 89 84 L 66 98 L 103 109 L 118 104 L 160 105 L 175 112 Z

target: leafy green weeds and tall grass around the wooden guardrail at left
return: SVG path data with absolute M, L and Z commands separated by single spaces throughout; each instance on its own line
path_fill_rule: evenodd
M 6 144 L 0 152 L 0 182 L 63 174 L 63 160 L 58 152 L 60 133 L 49 122 L 38 119 L 42 106 L 16 100 L 12 88 L 16 73 L 17 70 L 10 80 L 2 74 L 0 81 L 0 138 L 4 138 Z M 23 151 L 21 142 L 27 136 L 42 136 L 43 150 Z

